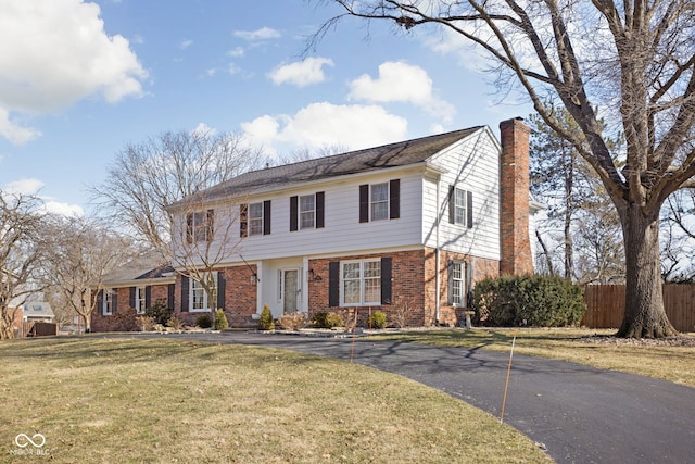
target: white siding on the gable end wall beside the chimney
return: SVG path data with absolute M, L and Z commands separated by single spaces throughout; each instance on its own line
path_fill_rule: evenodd
M 448 251 L 500 260 L 500 146 L 485 127 L 432 156 L 446 171 L 437 183 L 424 180 L 422 240 Z M 450 224 L 450 186 L 473 195 L 473 227 Z

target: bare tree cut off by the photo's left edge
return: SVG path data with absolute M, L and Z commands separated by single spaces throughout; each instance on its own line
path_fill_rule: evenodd
M 43 251 L 40 204 L 36 197 L 0 190 L 0 339 L 14 338 L 14 312 L 38 290 L 31 281 Z

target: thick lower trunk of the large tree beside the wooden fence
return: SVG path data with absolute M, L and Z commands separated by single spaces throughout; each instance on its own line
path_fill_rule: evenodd
M 621 212 L 626 243 L 626 312 L 618 337 L 661 338 L 677 336 L 666 315 L 661 291 L 658 211 L 645 216 L 639 205 Z

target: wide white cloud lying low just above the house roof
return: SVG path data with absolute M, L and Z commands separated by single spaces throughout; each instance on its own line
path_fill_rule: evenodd
M 253 142 L 264 146 L 349 149 L 403 140 L 407 121 L 377 105 L 312 103 L 294 115 L 261 116 L 241 125 Z

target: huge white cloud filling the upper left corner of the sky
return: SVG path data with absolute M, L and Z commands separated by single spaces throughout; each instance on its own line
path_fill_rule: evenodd
M 141 96 L 148 73 L 123 36 L 104 32 L 99 5 L 81 0 L 4 1 L 0 7 L 2 136 L 37 137 L 16 113 L 42 114 L 102 95 L 109 102 Z M 28 130 L 28 134 L 27 134 Z

